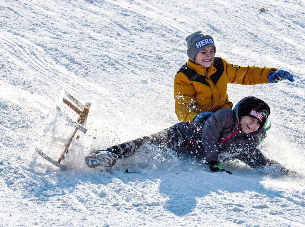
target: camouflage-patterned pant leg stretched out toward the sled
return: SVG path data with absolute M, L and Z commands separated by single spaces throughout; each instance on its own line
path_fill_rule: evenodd
M 149 136 L 141 137 L 136 140 L 131 140 L 122 144 L 110 147 L 113 153 L 117 154 L 119 158 L 127 157 L 135 153 L 140 147 L 145 144 L 153 144 L 165 148 L 171 148 L 177 151 L 184 144 L 184 138 L 179 130 L 179 126 L 184 123 L 178 123 L 170 128 L 163 129 L 160 132 L 153 133 Z

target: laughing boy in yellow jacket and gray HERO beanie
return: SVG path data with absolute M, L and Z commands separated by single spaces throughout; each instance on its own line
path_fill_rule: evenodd
M 293 76 L 275 68 L 237 66 L 215 57 L 213 37 L 196 31 L 185 38 L 188 62 L 177 72 L 174 80 L 175 112 L 179 121 L 193 121 L 200 113 L 232 108 L 227 84 L 254 85 L 277 83 Z M 203 114 L 204 116 L 204 114 Z

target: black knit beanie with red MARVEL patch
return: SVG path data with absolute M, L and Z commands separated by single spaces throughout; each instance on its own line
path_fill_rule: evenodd
M 270 108 L 263 100 L 251 96 L 242 101 L 238 106 L 238 116 L 250 116 L 256 118 L 260 125 L 264 125 L 268 116 L 270 115 Z

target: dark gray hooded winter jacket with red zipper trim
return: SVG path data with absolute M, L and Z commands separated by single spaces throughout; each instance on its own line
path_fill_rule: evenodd
M 185 138 L 185 149 L 192 151 L 192 154 L 200 152 L 201 155 L 197 156 L 201 156 L 207 162 L 219 161 L 219 158 L 239 159 L 251 167 L 277 163 L 266 158 L 257 148 L 260 144 L 259 138 L 267 137 L 264 127 L 249 134 L 239 129 L 239 103 L 233 110 L 217 110 L 205 123 L 178 123 L 177 126 L 179 125 L 180 132 Z

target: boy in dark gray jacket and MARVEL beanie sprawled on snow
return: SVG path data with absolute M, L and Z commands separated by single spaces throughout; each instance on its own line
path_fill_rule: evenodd
M 143 145 L 154 144 L 203 161 L 212 172 L 225 171 L 231 174 L 218 163 L 224 153 L 253 168 L 272 165 L 277 162 L 266 158 L 257 148 L 260 138 L 267 136 L 264 123 L 269 115 L 270 108 L 263 100 L 246 97 L 233 110 L 223 108 L 201 116 L 202 119 L 194 119 L 194 122 L 179 122 L 150 136 L 92 152 L 85 157 L 85 161 L 90 168 L 109 167 Z M 281 172 L 288 173 L 283 167 Z

